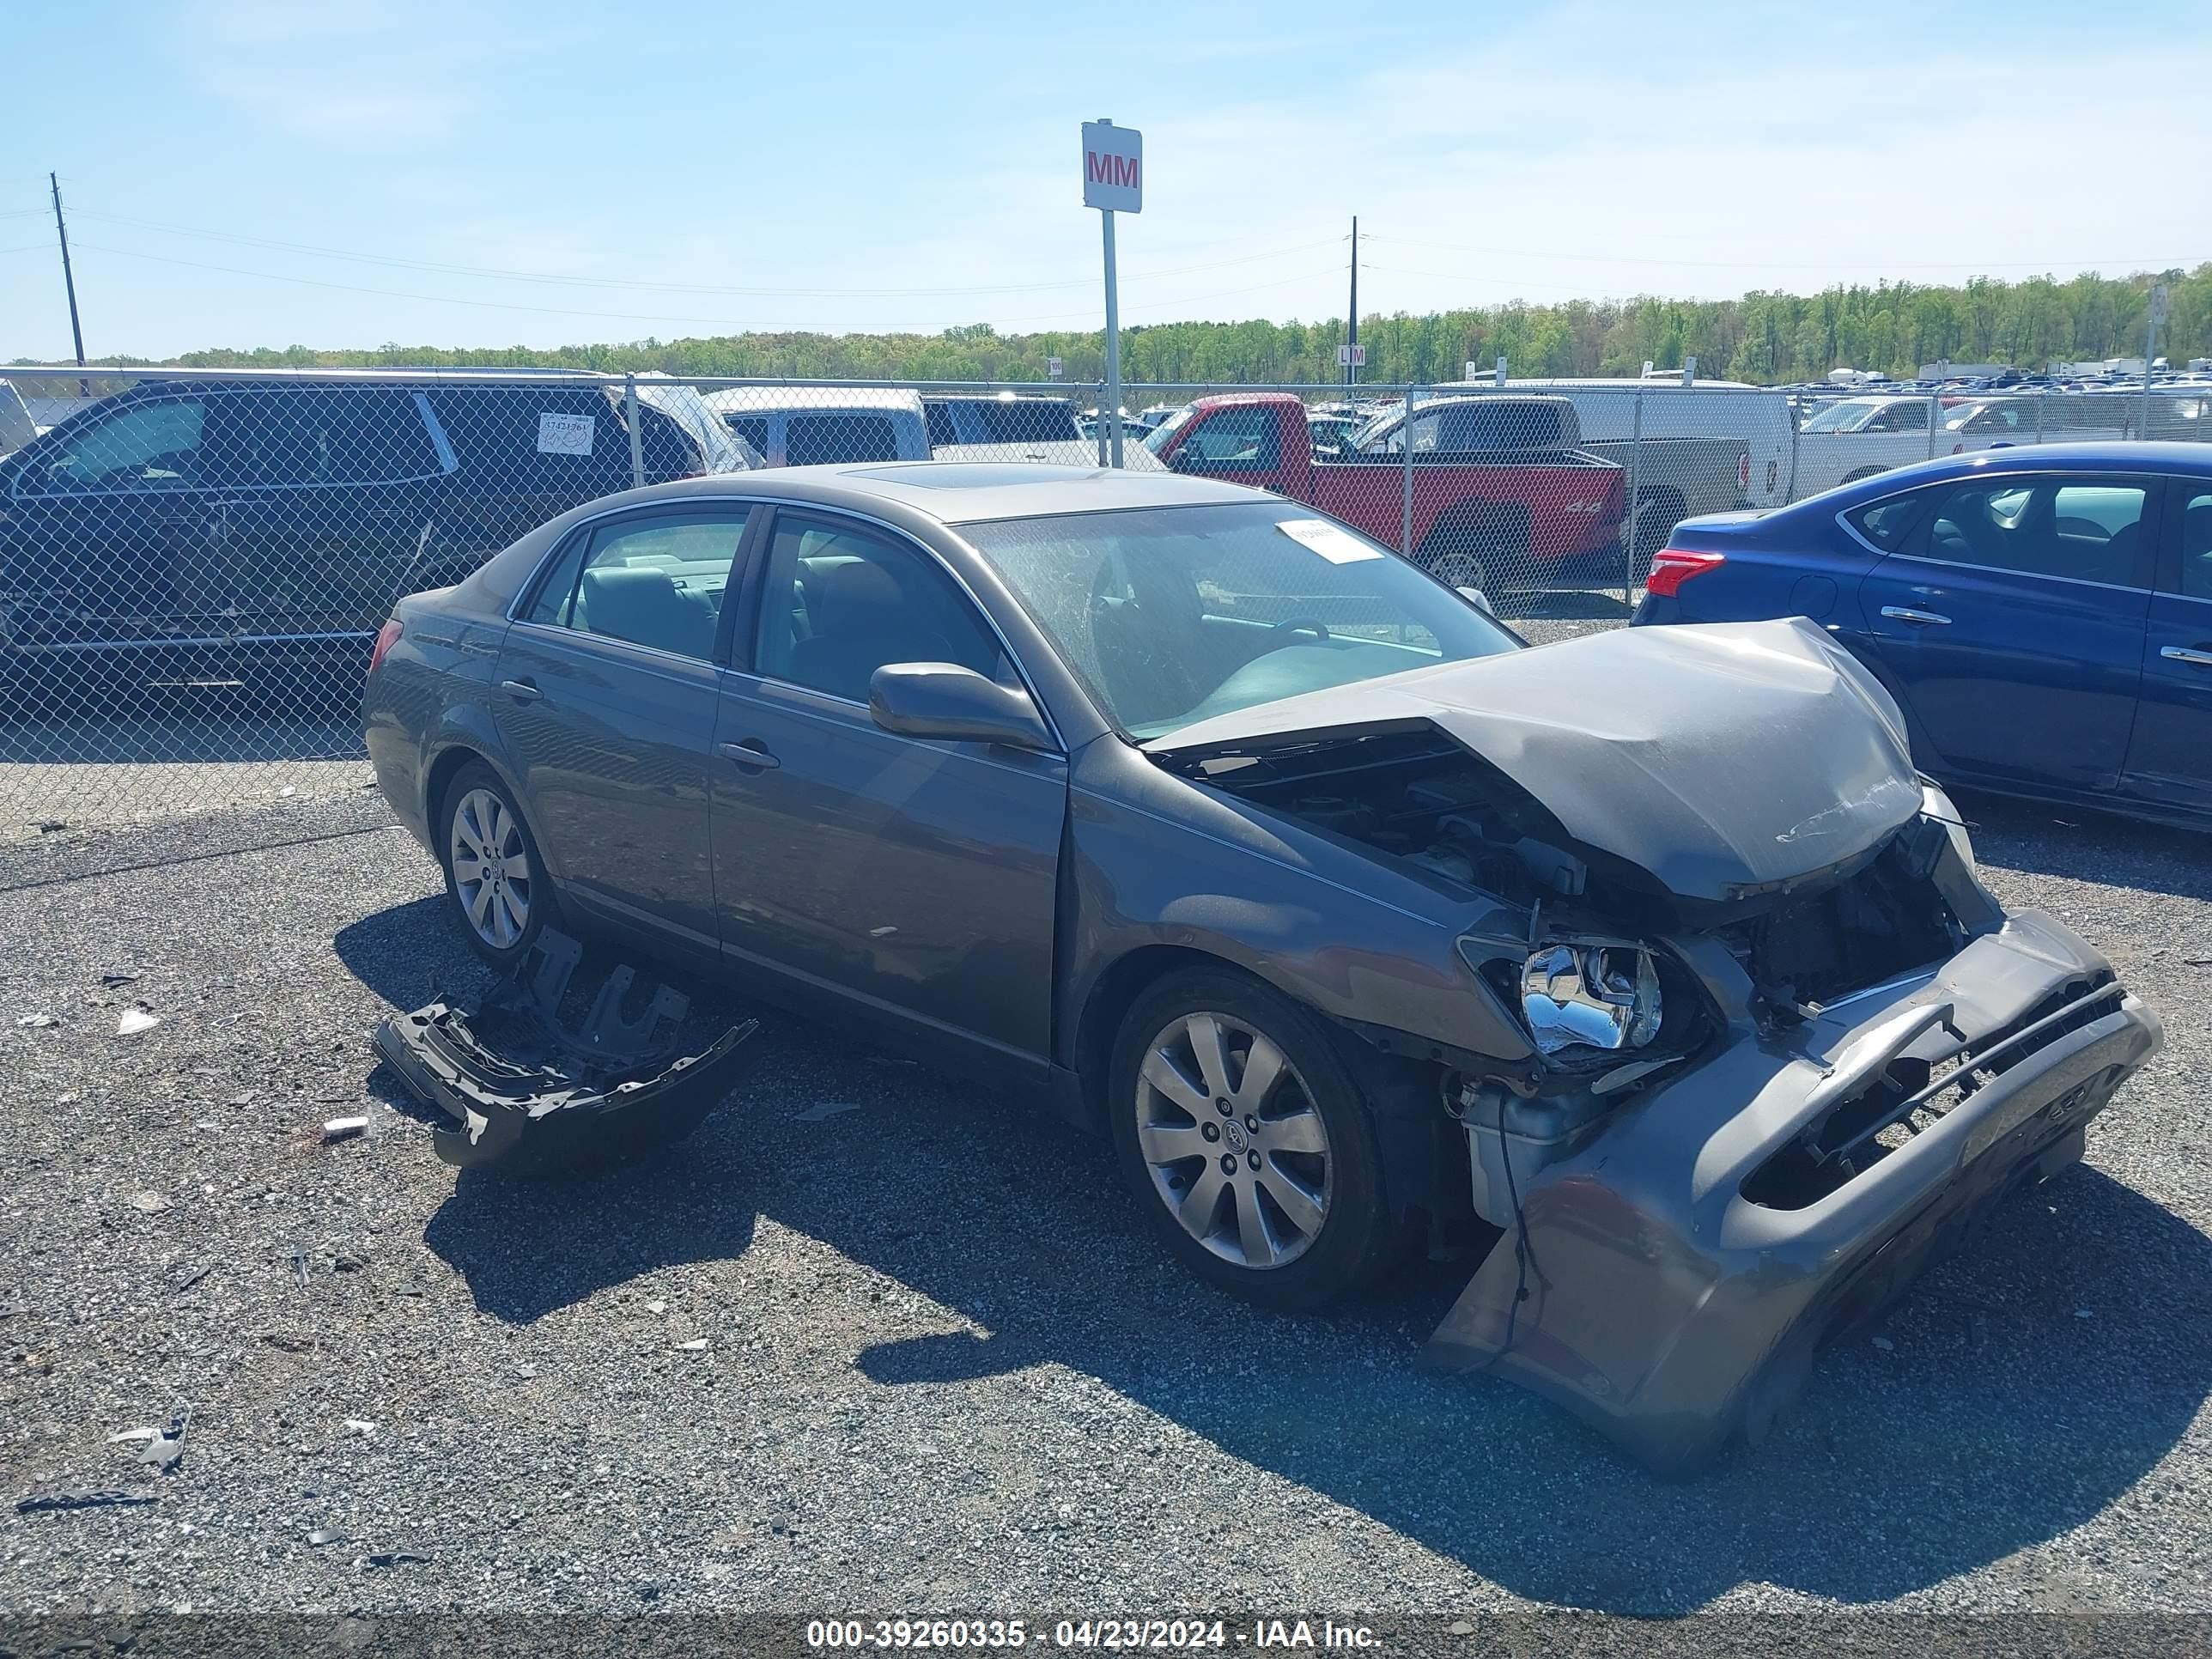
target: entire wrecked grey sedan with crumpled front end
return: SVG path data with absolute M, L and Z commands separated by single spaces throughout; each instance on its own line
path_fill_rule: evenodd
M 1652 1464 L 1756 1438 L 2159 1044 L 1818 628 L 1528 650 L 1217 482 L 633 491 L 400 602 L 365 717 L 489 960 L 619 933 L 1031 1091 L 1274 1307 L 1482 1252 L 1431 1356 Z

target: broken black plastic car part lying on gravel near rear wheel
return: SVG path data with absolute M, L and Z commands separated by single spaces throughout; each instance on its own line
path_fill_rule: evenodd
M 624 1018 L 635 969 L 606 975 L 577 1033 L 560 1026 L 584 947 L 546 929 L 513 973 L 467 1013 L 434 1000 L 376 1026 L 374 1046 L 407 1088 L 456 1128 L 431 1133 L 453 1168 L 566 1168 L 690 1135 L 752 1066 L 759 1020 L 681 1053 L 690 998 L 655 989 Z

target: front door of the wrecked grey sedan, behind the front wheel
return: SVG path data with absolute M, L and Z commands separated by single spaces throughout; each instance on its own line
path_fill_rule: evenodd
M 922 546 L 779 511 L 750 650 L 717 712 L 714 889 L 726 956 L 807 1000 L 947 1037 L 1009 1077 L 1051 1053 L 1066 761 L 894 737 L 869 677 L 951 661 L 1020 684 Z

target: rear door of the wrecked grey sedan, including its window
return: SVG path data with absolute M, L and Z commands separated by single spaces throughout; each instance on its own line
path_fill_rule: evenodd
M 500 737 L 580 905 L 712 949 L 714 655 L 745 509 L 580 529 L 500 646 Z

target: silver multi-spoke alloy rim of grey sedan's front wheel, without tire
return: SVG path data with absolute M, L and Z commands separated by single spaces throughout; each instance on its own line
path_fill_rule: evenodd
M 1329 1133 L 1283 1051 L 1225 1013 L 1183 1013 L 1146 1046 L 1137 1148 L 1183 1232 L 1239 1267 L 1303 1256 L 1329 1217 Z

